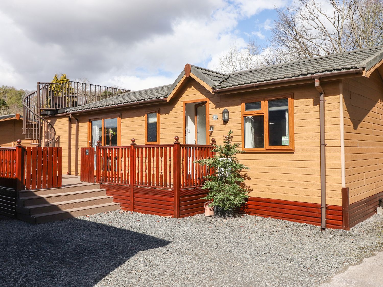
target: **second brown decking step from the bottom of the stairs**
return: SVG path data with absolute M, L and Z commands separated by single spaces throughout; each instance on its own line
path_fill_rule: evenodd
M 59 201 L 59 202 L 53 202 L 53 203 L 29 205 L 26 207 L 16 206 L 16 211 L 22 214 L 34 215 L 34 214 L 67 210 L 67 209 L 85 207 L 90 205 L 98 205 L 98 204 L 104 204 L 104 203 L 111 203 L 111 202 L 113 202 L 113 197 L 105 195 L 105 196 L 87 197 L 83 199 L 73 199 L 69 201 Z

